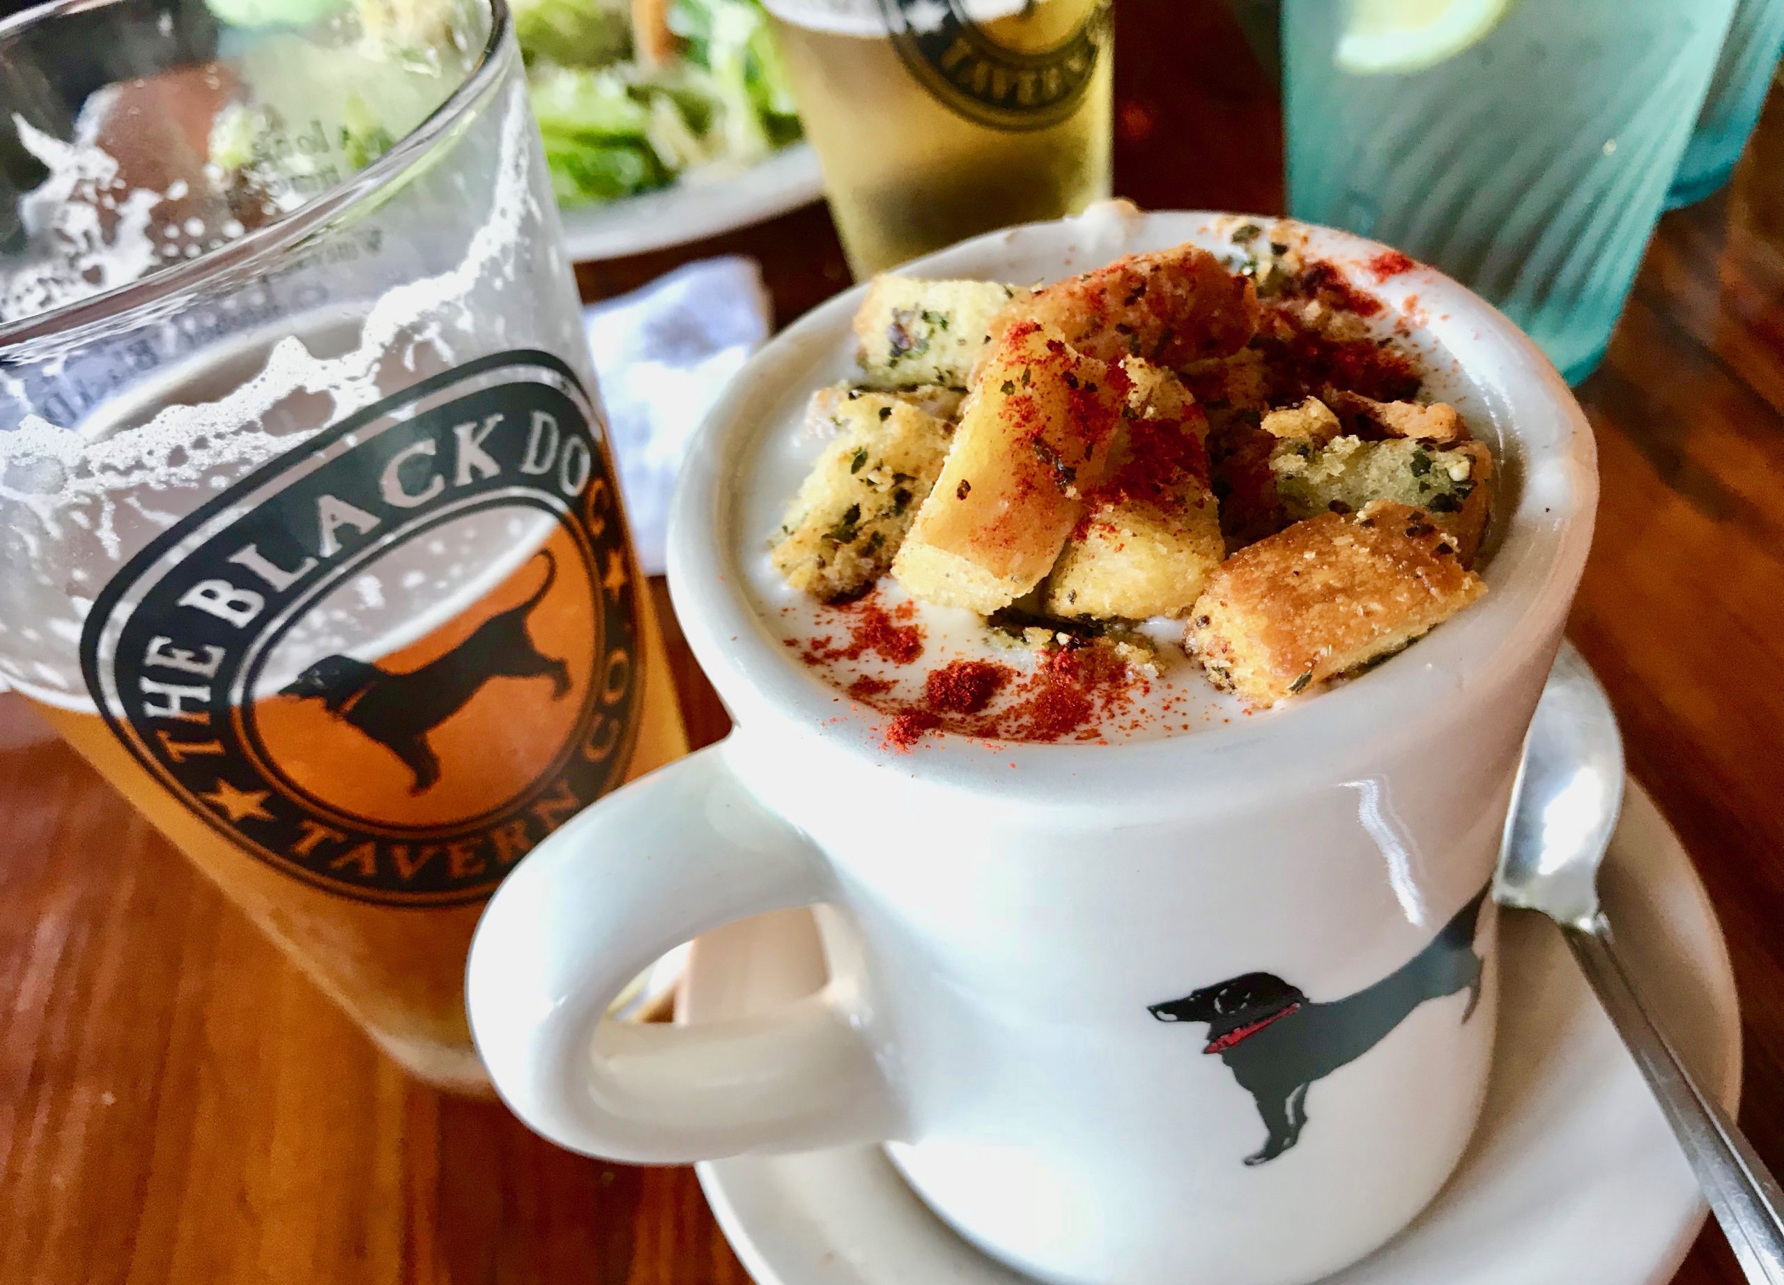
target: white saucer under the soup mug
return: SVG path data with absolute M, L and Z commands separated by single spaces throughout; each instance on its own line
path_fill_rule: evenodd
M 1734 1107 L 1741 1028 L 1729 953 L 1691 860 L 1631 782 L 1606 907 L 1661 1024 Z M 1541 919 L 1502 921 L 1499 1053 L 1486 1114 L 1429 1210 L 1331 1285 L 1657 1285 L 1704 1203 L 1616 1032 Z M 701 937 L 680 1021 L 772 1008 L 824 980 L 806 910 Z M 760 1285 L 1020 1285 L 946 1228 L 876 1148 L 699 1165 L 706 1199 Z

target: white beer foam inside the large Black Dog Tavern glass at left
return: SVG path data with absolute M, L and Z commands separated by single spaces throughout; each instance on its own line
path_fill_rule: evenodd
M 357 337 L 344 352 L 330 352 L 323 343 L 339 336 L 339 325 L 319 325 L 314 316 L 273 316 L 271 325 L 169 361 L 153 378 L 130 384 L 125 394 L 77 416 L 55 414 L 41 400 L 34 403 L 27 380 L 4 373 L 0 416 L 20 418 L 0 425 L 0 548 L 5 550 L 0 555 L 0 680 L 39 700 L 91 709 L 75 641 L 91 600 L 137 548 L 252 468 L 414 382 L 417 371 L 442 369 L 505 346 L 503 309 L 489 307 L 478 293 L 514 284 L 523 266 L 530 266 L 523 264 L 523 246 L 532 245 L 546 211 L 530 182 L 535 143 L 524 82 L 510 77 L 489 111 L 500 116 L 500 141 L 485 141 L 498 148 L 498 162 L 494 182 L 483 189 L 487 207 L 464 253 L 455 266 L 396 286 L 369 309 L 351 314 Z M 476 146 L 476 132 L 462 136 L 457 146 Z M 95 170 L 102 171 L 103 166 Z M 457 177 L 457 186 L 469 209 L 475 195 L 464 175 Z M 412 211 L 394 214 L 385 207 L 382 223 L 396 239 L 410 236 L 405 221 L 412 218 Z M 373 214 L 359 227 L 378 223 Z M 541 255 L 541 268 L 562 269 L 555 248 Z M 303 269 L 298 261 L 284 277 L 301 278 Z M 334 311 L 337 321 L 346 316 Z M 123 341 L 177 353 L 182 346 L 177 323 L 178 318 L 155 318 L 121 336 L 116 353 L 103 346 L 98 353 L 116 355 L 121 364 Z M 275 334 L 282 337 L 266 346 Z M 259 369 L 234 380 L 225 373 L 221 382 L 230 387 L 223 394 L 168 402 L 203 373 L 221 371 L 257 346 L 266 352 Z M 45 352 L 36 373 L 61 375 L 93 357 L 91 344 Z M 148 418 L 137 423 L 139 410 Z M 526 550 L 485 551 L 485 559 L 503 564 L 524 557 Z M 451 594 L 451 601 L 430 598 L 439 605 L 437 618 L 446 619 L 471 601 L 492 575 L 500 578 L 494 569 L 467 576 L 469 589 Z M 451 593 L 464 584 L 442 584 L 439 591 Z M 412 632 L 407 626 L 414 621 L 400 625 Z

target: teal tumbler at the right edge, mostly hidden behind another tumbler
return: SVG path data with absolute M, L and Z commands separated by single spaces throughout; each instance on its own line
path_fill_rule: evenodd
M 1666 209 L 1700 202 L 1729 182 L 1759 123 L 1779 57 L 1784 57 L 1784 0 L 1738 0 Z

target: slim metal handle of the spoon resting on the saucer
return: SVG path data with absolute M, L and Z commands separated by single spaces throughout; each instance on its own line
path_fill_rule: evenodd
M 1609 924 L 1600 917 L 1597 932 L 1563 928 L 1561 933 L 1659 1099 L 1747 1280 L 1784 1285 L 1784 1192 L 1777 1180 L 1654 1024 L 1618 958 Z

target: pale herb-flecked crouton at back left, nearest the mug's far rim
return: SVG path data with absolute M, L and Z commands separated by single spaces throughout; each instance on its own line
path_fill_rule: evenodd
M 963 389 L 992 316 L 1026 294 L 997 282 L 874 277 L 855 314 L 856 359 L 874 384 Z

